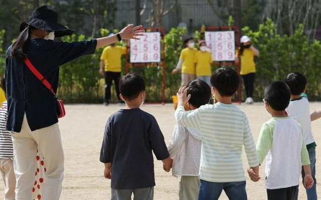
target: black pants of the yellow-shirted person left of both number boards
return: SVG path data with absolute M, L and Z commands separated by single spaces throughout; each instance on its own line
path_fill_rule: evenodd
M 111 98 L 111 86 L 112 82 L 114 80 L 117 98 L 120 100 L 119 97 L 119 78 L 120 78 L 120 72 L 105 72 L 105 96 L 104 96 L 104 102 L 109 101 Z

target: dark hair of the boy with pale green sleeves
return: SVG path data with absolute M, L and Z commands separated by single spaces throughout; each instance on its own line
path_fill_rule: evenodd
M 274 110 L 285 110 L 290 98 L 290 89 L 283 81 L 273 81 L 264 90 L 264 101 Z

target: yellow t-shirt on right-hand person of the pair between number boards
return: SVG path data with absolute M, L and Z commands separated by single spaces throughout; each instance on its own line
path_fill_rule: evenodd
M 212 55 L 210 52 L 197 51 L 194 62 L 196 63 L 196 76 L 210 76 L 212 63 Z

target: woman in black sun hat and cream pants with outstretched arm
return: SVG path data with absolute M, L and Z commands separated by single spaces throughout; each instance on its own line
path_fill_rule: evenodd
M 15 150 L 16 200 L 32 199 L 37 148 L 45 158 L 46 167 L 41 199 L 59 199 L 64 172 L 57 99 L 24 64 L 25 58 L 49 81 L 56 93 L 60 65 L 121 39 L 138 39 L 137 36 L 144 32 L 139 31 L 142 26 L 130 24 L 110 37 L 72 43 L 54 42 L 53 37 L 73 33 L 57 19 L 56 11 L 47 6 L 35 9 L 31 20 L 20 25 L 21 33 L 7 51 L 7 130 L 12 133 Z

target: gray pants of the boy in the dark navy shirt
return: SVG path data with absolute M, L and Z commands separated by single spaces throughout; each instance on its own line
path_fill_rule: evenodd
M 154 187 L 138 188 L 138 189 L 113 189 L 111 200 L 131 200 L 133 193 L 133 200 L 153 200 Z

